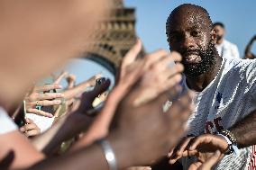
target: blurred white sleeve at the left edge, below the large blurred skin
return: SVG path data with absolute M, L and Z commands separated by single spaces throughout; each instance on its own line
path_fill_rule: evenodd
M 0 107 L 0 135 L 4 135 L 5 133 L 9 133 L 17 129 L 18 127 L 14 121 L 8 116 L 7 112 Z

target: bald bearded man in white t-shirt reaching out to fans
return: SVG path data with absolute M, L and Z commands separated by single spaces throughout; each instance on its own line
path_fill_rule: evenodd
M 169 153 L 169 163 L 184 157 L 187 169 L 220 150 L 215 169 L 255 168 L 256 60 L 221 58 L 211 18 L 201 6 L 179 5 L 169 14 L 166 29 L 170 50 L 182 55 L 181 83 L 195 92 L 196 104 L 187 138 Z

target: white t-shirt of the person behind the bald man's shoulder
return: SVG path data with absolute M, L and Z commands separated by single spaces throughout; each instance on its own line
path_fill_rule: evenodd
M 240 58 L 237 46 L 228 40 L 224 40 L 219 45 L 216 44 L 216 48 L 222 58 Z

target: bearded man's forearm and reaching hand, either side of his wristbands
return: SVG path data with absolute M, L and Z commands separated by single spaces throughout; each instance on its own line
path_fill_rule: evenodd
M 239 148 L 256 145 L 256 111 L 251 112 L 242 121 L 237 122 L 230 131 L 237 139 Z M 222 157 L 224 157 L 227 148 L 228 143 L 219 135 L 203 134 L 198 137 L 189 137 L 182 140 L 180 145 L 169 154 L 169 163 L 174 164 L 179 158 L 188 156 L 197 156 L 197 158 L 201 159 L 201 162 L 204 162 L 210 155 L 204 157 L 204 160 L 200 155 L 203 156 L 206 153 L 214 154 L 216 150 L 220 150 Z

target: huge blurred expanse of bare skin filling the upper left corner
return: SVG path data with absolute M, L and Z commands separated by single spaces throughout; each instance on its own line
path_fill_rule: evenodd
M 0 104 L 78 57 L 105 16 L 108 0 L 0 2 Z

